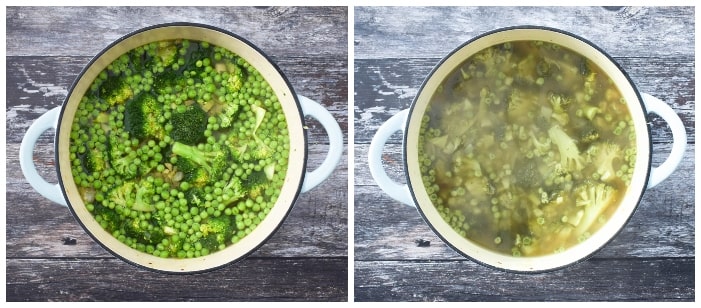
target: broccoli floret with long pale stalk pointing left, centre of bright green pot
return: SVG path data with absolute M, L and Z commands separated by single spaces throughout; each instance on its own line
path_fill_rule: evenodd
M 204 145 L 192 146 L 175 142 L 173 143 L 172 151 L 173 154 L 178 155 L 180 158 L 188 159 L 203 168 L 211 179 L 218 179 L 229 166 L 227 161 L 229 155 L 226 147 L 218 144 L 207 144 L 205 147 Z

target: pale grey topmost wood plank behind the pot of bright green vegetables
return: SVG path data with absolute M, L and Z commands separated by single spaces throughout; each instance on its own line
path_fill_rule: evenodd
M 271 56 L 348 54 L 345 6 L 8 7 L 6 19 L 8 56 L 92 57 L 132 31 L 171 22 L 231 31 Z

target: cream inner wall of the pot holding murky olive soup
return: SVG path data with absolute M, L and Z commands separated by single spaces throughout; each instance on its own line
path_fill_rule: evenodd
M 444 90 L 444 82 L 453 76 L 451 74 L 455 74 L 457 68 L 461 66 L 465 67 L 464 63 L 466 59 L 487 48 L 496 45 L 510 46 L 501 44 L 507 42 L 511 44 L 521 41 L 540 41 L 556 44 L 557 46 L 567 48 L 582 55 L 589 63 L 593 63 L 601 68 L 613 81 L 620 95 L 625 99 L 625 102 L 627 102 L 632 119 L 632 127 L 635 132 L 635 141 L 632 147 L 637 150 L 634 155 L 634 167 L 631 168 L 633 170 L 631 172 L 628 188 L 625 194 L 619 198 L 622 199 L 620 200 L 620 205 L 618 205 L 615 212 L 607 218 L 606 223 L 604 223 L 598 231 L 590 235 L 587 234 L 588 238 L 586 240 L 583 240 L 579 244 L 574 244 L 567 249 L 558 250 L 557 253 L 545 253 L 528 257 L 519 256 L 518 254 L 520 254 L 520 252 L 509 254 L 485 249 L 483 245 L 461 236 L 460 231 L 456 231 L 453 227 L 454 225 L 444 220 L 439 208 L 434 204 L 434 201 L 432 201 L 431 194 L 427 192 L 429 188 L 433 189 L 433 187 L 427 186 L 424 180 L 422 180 L 422 177 L 426 176 L 426 174 L 421 170 L 421 153 L 419 150 L 419 148 L 423 146 L 423 141 L 420 138 L 422 134 L 422 120 L 426 120 L 425 117 L 428 116 L 427 112 L 430 109 L 430 103 L 434 97 L 434 93 Z M 465 71 L 462 73 L 463 78 L 470 78 Z M 457 74 L 457 76 L 459 76 L 459 74 Z M 472 78 L 474 78 L 474 76 Z M 542 81 L 540 82 L 542 84 Z M 550 106 L 548 106 L 548 108 L 550 108 Z M 526 115 L 524 115 L 524 117 L 525 116 Z M 464 119 L 464 122 L 462 119 L 456 121 L 459 123 L 457 124 L 459 126 L 469 125 L 467 119 Z M 474 134 L 476 131 L 478 130 L 470 128 L 464 134 Z M 635 211 L 643 190 L 646 187 L 650 167 L 650 141 L 646 124 L 646 112 L 631 80 L 609 56 L 597 47 L 579 37 L 553 29 L 525 27 L 497 30 L 475 38 L 453 51 L 434 68 L 433 72 L 424 82 L 411 107 L 404 136 L 407 181 L 419 212 L 434 232 L 462 255 L 474 259 L 479 263 L 509 271 L 540 272 L 552 270 L 583 260 L 599 250 L 624 227 Z M 455 146 L 455 144 L 448 145 L 446 148 L 451 146 Z M 518 151 L 518 149 L 506 149 L 505 151 Z M 452 163 L 454 164 L 455 162 L 453 161 Z M 426 170 L 426 173 L 427 172 Z M 465 186 L 467 187 L 467 185 Z M 431 191 L 433 193 L 434 190 Z M 495 206 L 500 206 L 501 203 L 505 203 L 497 198 L 493 198 L 492 201 L 495 202 L 493 203 Z M 450 208 L 450 206 L 446 206 L 446 208 Z M 468 214 L 465 215 L 467 216 Z M 474 231 L 474 229 L 470 230 L 479 232 Z M 521 242 L 520 236 L 516 238 L 518 243 L 523 243 Z M 495 238 L 494 241 L 495 243 L 501 242 L 501 237 L 499 239 Z

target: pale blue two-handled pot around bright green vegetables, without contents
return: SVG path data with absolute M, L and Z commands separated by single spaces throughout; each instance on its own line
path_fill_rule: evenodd
M 253 65 L 275 91 L 284 111 L 290 135 L 288 170 L 284 184 L 270 213 L 251 234 L 224 250 L 207 256 L 175 259 L 159 258 L 139 252 L 119 242 L 106 232 L 88 212 L 71 175 L 69 142 L 71 124 L 78 104 L 95 77 L 122 54 L 144 44 L 170 39 L 206 41 L 224 47 Z M 304 116 L 321 123 L 330 141 L 329 152 L 322 164 L 306 172 L 307 137 Z M 32 160 L 33 149 L 39 136 L 55 129 L 54 139 L 58 184 L 48 183 L 37 172 Z M 343 135 L 333 116 L 306 97 L 295 94 L 287 78 L 272 60 L 258 47 L 238 35 L 208 25 L 192 23 L 161 24 L 137 30 L 109 45 L 95 56 L 78 75 L 68 91 L 64 104 L 39 117 L 27 130 L 20 147 L 22 172 L 31 186 L 44 197 L 68 206 L 78 223 L 102 247 L 124 261 L 157 272 L 194 273 L 213 270 L 238 261 L 252 253 L 278 229 L 289 214 L 297 196 L 323 182 L 338 165 L 343 151 Z

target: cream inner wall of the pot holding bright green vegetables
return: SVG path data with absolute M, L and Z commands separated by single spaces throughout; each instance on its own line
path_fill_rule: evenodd
M 132 249 L 106 232 L 95 220 L 81 199 L 78 186 L 71 173 L 70 134 L 78 105 L 91 83 L 115 59 L 139 46 L 164 40 L 191 40 L 208 42 L 223 47 L 255 67 L 277 96 L 285 115 L 289 133 L 289 162 L 283 186 L 277 201 L 267 216 L 250 234 L 223 250 L 195 258 L 161 258 Z M 63 106 L 57 129 L 56 153 L 59 180 L 66 200 L 79 223 L 104 248 L 125 261 L 155 271 L 191 273 L 211 270 L 237 261 L 263 244 L 280 226 L 291 210 L 299 193 L 306 162 L 306 139 L 303 130 L 301 108 L 294 92 L 279 69 L 255 46 L 238 36 L 209 26 L 195 24 L 169 24 L 143 29 L 127 35 L 103 50 L 84 69 L 69 92 Z M 295 163 L 291 163 L 295 162 Z

